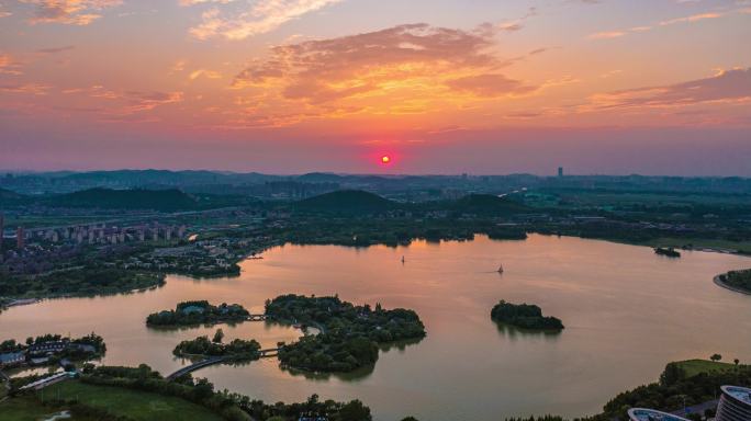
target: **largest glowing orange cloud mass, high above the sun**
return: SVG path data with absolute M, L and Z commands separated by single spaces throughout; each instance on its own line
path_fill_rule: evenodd
M 498 69 L 508 61 L 492 52 L 493 34 L 406 24 L 382 31 L 274 47 L 235 77 L 236 88 L 277 90 L 309 104 L 362 100 L 366 106 L 421 99 L 450 99 L 534 90 Z

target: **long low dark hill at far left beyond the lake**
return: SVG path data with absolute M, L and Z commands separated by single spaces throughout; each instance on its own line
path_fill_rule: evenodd
M 49 197 L 47 205 L 61 207 L 98 207 L 107 209 L 192 209 L 197 201 L 177 190 L 111 190 L 89 189 Z

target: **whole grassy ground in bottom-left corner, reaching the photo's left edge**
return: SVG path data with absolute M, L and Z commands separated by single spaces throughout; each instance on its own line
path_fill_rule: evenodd
M 40 405 L 40 400 L 44 401 L 45 399 L 77 399 L 81 405 L 103 409 L 113 416 L 127 417 L 138 421 L 222 420 L 220 416 L 206 408 L 184 399 L 119 387 L 87 385 L 77 380 L 49 386 L 37 392 L 36 397 L 22 396 L 1 402 L 0 419 L 2 421 L 46 420 L 58 411 Z M 77 417 L 75 413 L 71 420 L 89 421 Z

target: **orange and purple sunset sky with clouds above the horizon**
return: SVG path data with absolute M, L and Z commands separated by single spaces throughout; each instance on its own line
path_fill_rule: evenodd
M 559 166 L 751 177 L 751 0 L 0 0 L 3 170 Z

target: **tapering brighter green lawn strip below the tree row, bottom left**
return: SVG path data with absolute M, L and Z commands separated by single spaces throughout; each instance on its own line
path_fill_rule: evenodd
M 49 386 L 37 394 L 41 399 L 77 399 L 115 416 L 134 420 L 221 421 L 209 409 L 184 399 L 111 386 L 93 386 L 68 380 Z

